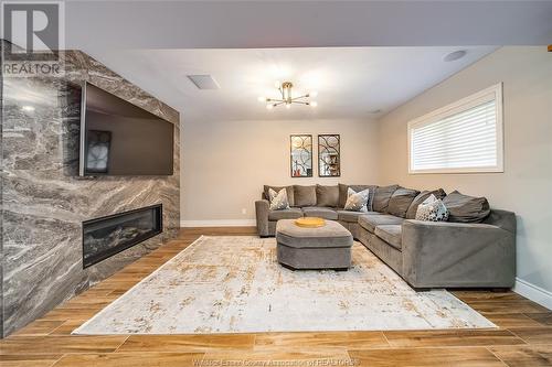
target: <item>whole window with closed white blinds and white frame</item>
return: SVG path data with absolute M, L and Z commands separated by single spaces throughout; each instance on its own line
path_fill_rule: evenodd
M 408 122 L 410 173 L 503 172 L 502 84 Z

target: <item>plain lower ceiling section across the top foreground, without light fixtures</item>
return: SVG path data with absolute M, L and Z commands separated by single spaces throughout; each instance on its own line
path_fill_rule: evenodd
M 66 1 L 70 48 L 542 45 L 552 1 Z

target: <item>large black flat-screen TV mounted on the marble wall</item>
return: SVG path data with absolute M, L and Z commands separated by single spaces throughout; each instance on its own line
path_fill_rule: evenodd
M 174 126 L 85 83 L 81 175 L 172 175 Z

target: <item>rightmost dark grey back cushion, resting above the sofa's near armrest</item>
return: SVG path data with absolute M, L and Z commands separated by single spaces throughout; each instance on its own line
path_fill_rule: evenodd
M 485 197 L 475 197 L 454 191 L 443 199 L 448 209 L 448 222 L 481 223 L 490 213 Z

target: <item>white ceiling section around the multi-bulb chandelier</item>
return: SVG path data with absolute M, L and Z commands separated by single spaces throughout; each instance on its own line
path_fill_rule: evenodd
M 464 58 L 443 56 L 466 50 Z M 103 51 L 93 56 L 181 111 L 187 122 L 379 117 L 496 47 L 318 47 Z M 210 74 L 217 90 L 200 90 L 190 74 Z M 318 107 L 267 110 L 276 80 L 317 90 Z M 381 110 L 380 114 L 371 114 Z

